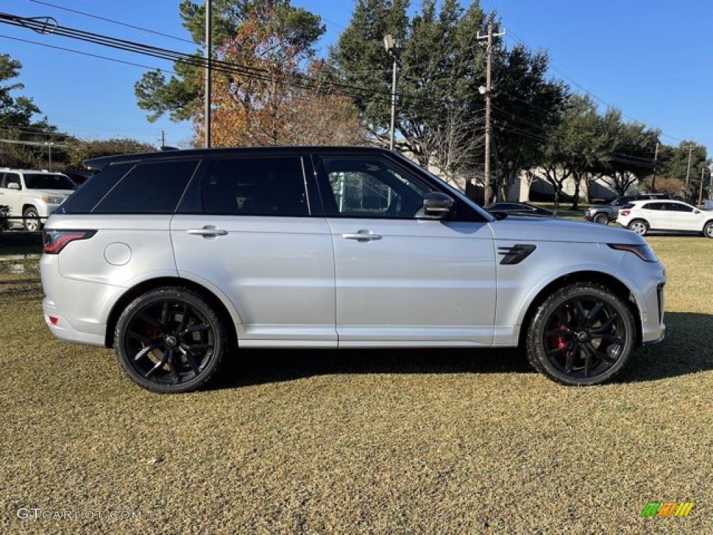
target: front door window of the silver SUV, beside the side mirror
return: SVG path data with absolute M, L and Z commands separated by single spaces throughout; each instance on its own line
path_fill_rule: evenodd
M 423 217 L 424 197 L 434 188 L 374 158 L 324 158 L 329 180 L 327 215 L 346 218 Z M 331 201 L 331 202 L 330 202 Z

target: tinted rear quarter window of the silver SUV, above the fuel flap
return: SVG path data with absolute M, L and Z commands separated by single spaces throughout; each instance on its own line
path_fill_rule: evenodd
M 126 173 L 93 212 L 173 213 L 198 160 L 138 163 Z M 88 188 L 97 177 L 90 180 Z M 83 192 L 85 188 L 81 189 Z

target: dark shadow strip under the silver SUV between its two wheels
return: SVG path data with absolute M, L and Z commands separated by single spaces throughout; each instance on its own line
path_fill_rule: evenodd
M 227 357 L 208 389 L 332 374 L 534 373 L 516 349 L 241 350 Z

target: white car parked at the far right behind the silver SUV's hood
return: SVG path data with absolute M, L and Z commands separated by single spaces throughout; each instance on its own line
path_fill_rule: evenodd
M 649 230 L 702 233 L 713 238 L 713 213 L 680 200 L 635 200 L 619 210 L 617 223 L 645 235 Z

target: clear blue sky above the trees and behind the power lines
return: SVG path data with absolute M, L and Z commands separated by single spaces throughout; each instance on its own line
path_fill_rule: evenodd
M 68 9 L 115 19 L 188 39 L 180 26 L 178 0 L 45 0 Z M 326 51 L 349 24 L 352 0 L 293 0 L 322 16 Z M 483 0 L 495 9 L 510 32 L 508 45 L 522 41 L 547 49 L 552 74 L 577 91 L 590 91 L 620 108 L 625 116 L 663 131 L 662 141 L 692 139 L 713 152 L 713 2 L 704 0 Z M 419 5 L 414 3 L 414 9 Z M 468 5 L 463 1 L 463 5 Z M 155 34 L 68 13 L 31 0 L 0 0 L 0 11 L 21 16 L 50 15 L 59 24 L 109 34 L 155 46 L 194 51 L 195 46 Z M 0 24 L 0 36 L 111 56 L 150 67 L 170 63 L 122 53 L 58 36 Z M 24 94 L 62 131 L 81 138 L 128 136 L 157 143 L 160 131 L 168 144 L 187 141 L 190 123 L 145 121 L 136 106 L 133 84 L 145 69 L 48 49 L 0 37 L 0 52 L 23 63 Z M 576 85 L 575 85 L 576 84 Z M 605 106 L 602 104 L 602 106 Z

